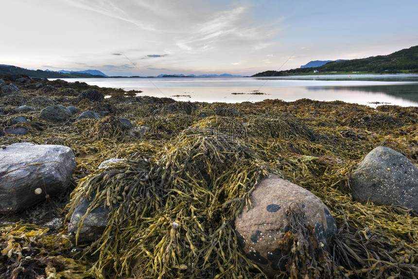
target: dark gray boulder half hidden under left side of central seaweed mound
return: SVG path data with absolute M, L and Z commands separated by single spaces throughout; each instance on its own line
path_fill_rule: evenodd
M 93 197 L 94 198 L 94 197 Z M 97 207 L 87 213 L 86 218 L 81 223 L 82 217 L 86 214 L 90 202 L 81 199 L 80 203 L 75 207 L 68 225 L 70 241 L 76 243 L 76 234 L 80 228 L 77 244 L 90 243 L 100 238 L 107 226 L 107 215 L 110 210 L 107 207 Z

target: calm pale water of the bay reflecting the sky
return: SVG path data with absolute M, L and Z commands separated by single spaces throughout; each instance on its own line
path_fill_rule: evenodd
M 377 106 L 372 104 L 375 102 L 418 106 L 418 76 L 415 74 L 65 80 L 99 87 L 142 90 L 139 96 L 170 97 L 177 101 L 240 103 L 281 99 L 289 102 L 308 98 L 318 101 L 340 100 L 373 107 Z

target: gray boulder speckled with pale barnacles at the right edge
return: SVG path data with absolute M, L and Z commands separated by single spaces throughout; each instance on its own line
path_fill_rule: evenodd
M 401 205 L 418 212 L 418 168 L 401 153 L 379 146 L 350 176 L 353 198 Z

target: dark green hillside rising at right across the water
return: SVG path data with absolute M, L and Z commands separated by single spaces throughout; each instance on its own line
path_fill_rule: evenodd
M 289 74 L 307 74 L 319 72 L 368 72 L 368 73 L 404 73 L 418 72 L 418 46 L 403 49 L 388 55 L 371 56 L 362 59 L 351 59 L 330 62 L 316 68 L 297 68 L 292 70 L 268 70 L 253 76 L 285 76 Z

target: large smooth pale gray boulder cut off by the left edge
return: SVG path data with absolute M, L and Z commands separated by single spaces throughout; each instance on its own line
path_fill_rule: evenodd
M 64 190 L 76 168 L 69 147 L 15 143 L 0 149 L 0 212 L 33 206 Z

